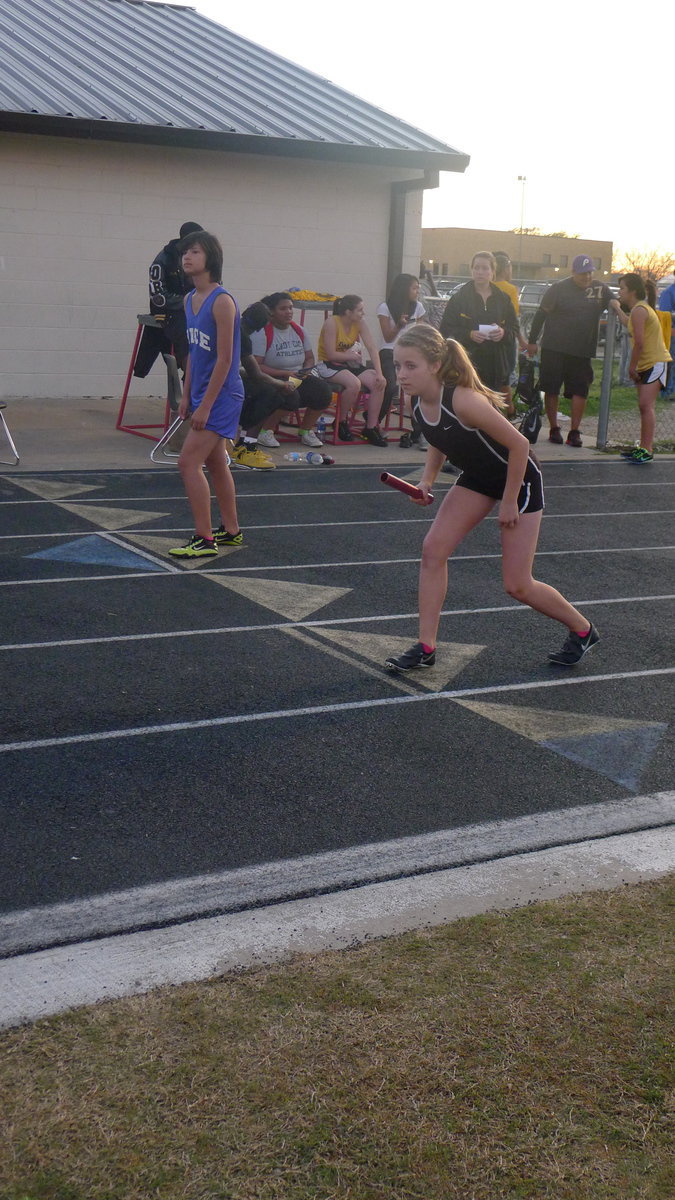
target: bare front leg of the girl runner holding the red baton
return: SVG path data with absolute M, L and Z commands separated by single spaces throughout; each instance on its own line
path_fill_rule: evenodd
M 452 487 L 424 539 L 419 564 L 419 641 L 436 646 L 441 610 L 448 590 L 448 558 L 467 533 L 494 509 L 496 500 L 467 487 Z

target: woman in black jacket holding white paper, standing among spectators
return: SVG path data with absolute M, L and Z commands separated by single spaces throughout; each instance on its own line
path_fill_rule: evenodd
M 492 282 L 495 256 L 480 250 L 471 260 L 472 280 L 455 292 L 441 319 L 443 337 L 464 346 L 482 383 L 506 392 L 510 372 L 509 346 L 519 335 L 509 298 Z

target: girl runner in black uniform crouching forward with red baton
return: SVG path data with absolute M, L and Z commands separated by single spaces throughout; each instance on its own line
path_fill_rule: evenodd
M 429 442 L 419 482 L 423 504 L 446 457 L 461 474 L 446 496 L 424 539 L 419 570 L 419 642 L 388 658 L 392 671 L 430 667 L 436 661 L 436 635 L 448 589 L 448 558 L 500 502 L 504 588 L 569 630 L 551 662 L 574 666 L 595 646 L 598 632 L 571 604 L 532 577 L 544 491 L 542 472 L 530 443 L 502 416 L 503 396 L 480 383 L 466 352 L 444 341 L 431 325 L 404 330 L 394 347 L 396 377 L 413 397 L 413 413 Z

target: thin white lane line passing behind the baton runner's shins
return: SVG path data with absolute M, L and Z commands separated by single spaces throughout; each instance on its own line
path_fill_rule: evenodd
M 123 576 L 124 578 L 125 576 Z M 139 576 L 144 578 L 144 576 Z M 580 608 L 608 604 L 651 604 L 655 600 L 675 600 L 675 593 L 650 596 L 602 596 L 599 600 L 571 600 Z M 443 608 L 441 617 L 474 617 L 486 613 L 519 612 L 531 610 L 521 604 L 490 605 L 482 608 Z M 46 650 L 71 646 L 107 646 L 113 642 L 154 642 L 172 637 L 216 637 L 222 634 L 265 634 L 273 630 L 321 629 L 322 625 L 368 625 L 387 620 L 417 620 L 417 612 L 377 613 L 369 617 L 327 617 L 323 620 L 283 620 L 261 625 L 216 625 L 209 629 L 171 629 L 154 634 L 110 634 L 107 637 L 71 637 L 52 642 L 6 642 L 0 650 Z

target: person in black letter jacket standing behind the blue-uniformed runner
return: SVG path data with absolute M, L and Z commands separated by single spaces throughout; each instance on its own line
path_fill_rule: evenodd
M 161 323 L 157 329 L 143 326 L 143 336 L 133 365 L 133 374 L 144 379 L 160 354 L 172 354 L 184 370 L 187 359 L 187 334 L 185 331 L 184 298 L 192 281 L 183 272 L 180 245 L 190 233 L 202 233 L 196 221 L 185 221 L 178 238 L 172 238 L 150 263 L 149 290 L 150 314 Z

